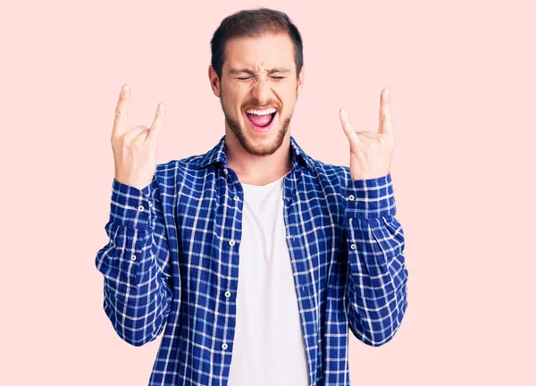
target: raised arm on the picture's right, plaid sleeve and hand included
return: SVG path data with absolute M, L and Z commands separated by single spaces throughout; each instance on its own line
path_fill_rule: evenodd
M 395 148 L 389 104 L 389 89 L 383 88 L 377 132 L 356 131 L 346 110 L 339 111 L 350 144 L 344 218 L 348 323 L 370 346 L 393 338 L 407 307 L 404 231 L 395 218 L 389 172 Z

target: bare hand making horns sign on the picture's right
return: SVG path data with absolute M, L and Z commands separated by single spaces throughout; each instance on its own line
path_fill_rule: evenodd
M 395 149 L 390 109 L 389 89 L 383 88 L 380 96 L 380 129 L 356 131 L 344 108 L 339 110 L 342 128 L 350 142 L 350 176 L 352 180 L 366 180 L 389 174 Z

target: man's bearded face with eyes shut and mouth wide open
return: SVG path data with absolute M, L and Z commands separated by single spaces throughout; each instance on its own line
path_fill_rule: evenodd
M 230 39 L 219 82 L 210 66 L 226 126 L 249 154 L 272 155 L 281 147 L 301 93 L 304 67 L 297 79 L 294 46 L 287 34 Z

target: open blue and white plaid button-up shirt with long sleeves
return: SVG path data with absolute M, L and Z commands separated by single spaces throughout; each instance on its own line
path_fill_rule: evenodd
M 381 346 L 406 312 L 391 176 L 351 180 L 348 166 L 314 160 L 293 137 L 290 144 L 284 219 L 309 383 L 349 385 L 348 329 Z M 158 164 L 144 189 L 113 180 L 109 242 L 95 263 L 121 339 L 141 346 L 163 331 L 149 385 L 227 384 L 243 198 L 225 136 L 205 155 Z

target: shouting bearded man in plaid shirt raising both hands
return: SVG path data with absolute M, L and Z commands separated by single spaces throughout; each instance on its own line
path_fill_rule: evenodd
M 211 46 L 225 135 L 205 155 L 156 164 L 163 105 L 128 128 L 121 89 L 105 313 L 134 346 L 163 331 L 150 385 L 349 385 L 348 330 L 380 346 L 407 306 L 386 89 L 378 132 L 339 111 L 350 166 L 324 164 L 290 136 L 305 66 L 288 16 L 235 13 Z

